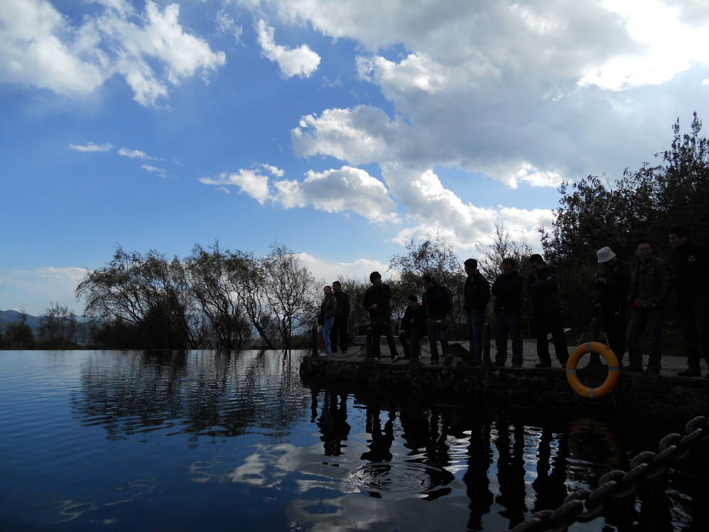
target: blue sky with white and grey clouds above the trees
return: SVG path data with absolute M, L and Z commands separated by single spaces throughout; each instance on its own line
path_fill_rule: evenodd
M 117 246 L 536 251 L 558 185 L 709 116 L 704 0 L 0 2 L 0 310 L 77 314 Z

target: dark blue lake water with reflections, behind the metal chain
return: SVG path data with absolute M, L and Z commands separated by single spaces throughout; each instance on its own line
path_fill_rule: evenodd
M 496 531 L 683 423 L 303 387 L 303 352 L 0 351 L 0 529 Z M 709 467 L 571 531 L 706 531 Z

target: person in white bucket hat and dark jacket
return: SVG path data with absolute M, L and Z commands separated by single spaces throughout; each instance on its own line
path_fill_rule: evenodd
M 610 247 L 596 251 L 598 264 L 605 266 L 593 276 L 598 291 L 598 305 L 603 332 L 608 337 L 608 347 L 622 360 L 625 353 L 625 308 L 630 288 L 630 265 L 618 259 Z

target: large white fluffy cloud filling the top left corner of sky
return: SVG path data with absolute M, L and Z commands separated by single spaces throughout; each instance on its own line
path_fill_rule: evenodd
M 184 31 L 177 4 L 161 11 L 148 0 L 136 13 L 125 0 L 97 3 L 103 12 L 74 26 L 48 1 L 2 2 L 0 82 L 87 94 L 119 74 L 137 102 L 152 106 L 168 94 L 168 82 L 178 85 L 226 62 L 223 52 Z

